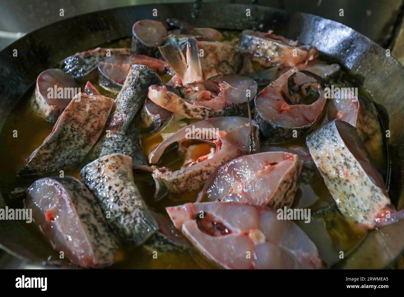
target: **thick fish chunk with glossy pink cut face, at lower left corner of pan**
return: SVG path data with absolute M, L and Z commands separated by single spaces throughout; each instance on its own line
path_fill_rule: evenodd
M 46 218 L 43 212 L 44 209 L 41 207 L 41 201 L 46 200 L 44 203 L 48 207 L 57 202 L 52 202 L 52 197 L 48 196 L 49 192 L 47 192 L 48 195 L 40 195 L 41 200 L 34 202 L 33 196 L 37 195 L 37 192 L 40 192 L 40 187 L 43 185 L 54 186 L 57 188 L 58 193 L 59 191 L 60 193 L 64 193 L 63 195 L 59 195 L 59 197 L 65 202 L 68 202 L 68 205 L 72 209 L 71 213 L 65 213 L 65 215 L 69 216 L 70 214 L 74 214 L 77 226 L 80 226 L 80 231 L 86 240 L 79 242 L 77 232 L 73 232 L 74 230 L 71 228 L 67 228 L 67 233 L 63 233 L 63 228 L 66 227 L 64 225 L 65 221 L 63 221 L 65 219 L 65 217 L 62 216 L 63 213 L 57 213 L 58 219 L 52 221 Z M 64 251 L 65 257 L 76 265 L 83 268 L 98 268 L 114 263 L 114 258 L 118 251 L 117 241 L 107 227 L 107 222 L 105 221 L 104 215 L 101 213 L 98 202 L 78 179 L 70 176 L 38 179 L 27 189 L 26 206 L 34 209 L 33 214 L 36 213 L 38 215 L 34 217 L 34 220 L 41 225 L 42 232 L 46 232 L 53 226 L 51 234 L 62 232 L 62 234 L 65 235 L 63 236 L 65 246 L 52 240 L 53 238 L 49 239 L 55 249 L 59 248 Z M 56 210 L 55 208 L 52 209 L 49 207 L 45 211 L 60 212 L 61 209 L 61 207 Z M 69 220 L 69 223 L 73 224 L 71 220 Z M 66 231 L 66 229 L 64 229 L 64 231 Z M 49 236 L 49 234 L 45 235 Z M 72 240 L 68 240 L 67 238 L 69 237 L 72 238 Z M 82 247 L 83 244 L 87 244 L 86 248 L 91 252 L 86 251 L 81 254 L 77 245 Z M 75 248 L 77 249 L 76 251 L 74 251 Z M 71 252 L 72 250 L 74 253 Z

